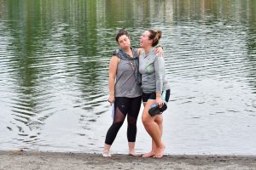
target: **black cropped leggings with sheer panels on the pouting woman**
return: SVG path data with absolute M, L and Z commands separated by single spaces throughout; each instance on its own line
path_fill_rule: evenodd
M 120 127 L 125 122 L 125 116 L 127 116 L 127 139 L 128 142 L 136 141 L 137 134 L 137 116 L 139 114 L 142 104 L 142 97 L 137 98 L 125 98 L 116 97 L 114 100 L 114 117 L 111 127 L 108 129 L 108 133 L 105 139 L 105 144 L 113 144 Z

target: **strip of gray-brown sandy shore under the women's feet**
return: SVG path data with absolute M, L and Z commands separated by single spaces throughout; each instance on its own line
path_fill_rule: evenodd
M 38 151 L 0 151 L 1 170 L 23 169 L 256 169 L 256 156 L 164 156 L 161 159 L 127 155 Z

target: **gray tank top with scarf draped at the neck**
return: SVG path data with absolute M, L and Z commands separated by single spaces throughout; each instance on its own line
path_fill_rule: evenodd
M 138 85 L 136 73 L 133 69 L 138 68 L 137 49 L 131 48 L 133 58 L 128 54 L 119 53 L 121 49 L 115 50 L 114 55 L 119 57 L 119 65 L 116 73 L 116 80 L 114 86 L 115 97 L 136 98 L 143 94 L 142 88 Z M 135 60 L 136 59 L 136 60 Z

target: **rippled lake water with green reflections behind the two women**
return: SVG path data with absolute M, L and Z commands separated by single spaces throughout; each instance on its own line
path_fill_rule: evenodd
M 0 150 L 99 152 L 115 32 L 163 31 L 167 154 L 256 155 L 256 1 L 0 0 Z M 126 125 L 126 124 L 125 124 Z M 126 127 L 113 152 L 126 153 Z M 138 120 L 137 150 L 150 149 Z

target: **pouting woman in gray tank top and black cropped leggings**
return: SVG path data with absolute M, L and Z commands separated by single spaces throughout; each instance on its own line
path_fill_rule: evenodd
M 119 128 L 127 115 L 127 139 L 129 154 L 137 156 L 135 141 L 137 135 L 137 116 L 142 103 L 141 77 L 138 72 L 138 54 L 142 48 L 131 48 L 127 31 L 120 30 L 116 35 L 119 49 L 113 51 L 109 63 L 109 97 L 113 105 L 113 123 L 108 129 L 102 156 L 110 157 L 109 150 L 116 138 Z M 160 53 L 162 48 L 159 49 Z M 157 53 L 157 52 L 156 52 Z

